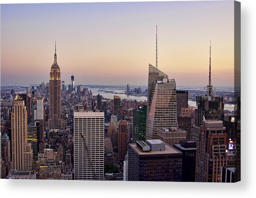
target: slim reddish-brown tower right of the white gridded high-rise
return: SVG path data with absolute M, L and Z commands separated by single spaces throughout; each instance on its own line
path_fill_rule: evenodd
M 118 160 L 123 162 L 127 152 L 127 122 L 121 120 L 118 126 Z

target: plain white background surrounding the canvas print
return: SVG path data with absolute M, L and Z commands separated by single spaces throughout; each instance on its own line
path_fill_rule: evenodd
M 127 0 L 122 0 L 126 2 Z M 134 0 L 129 0 L 134 1 Z M 149 0 L 148 0 L 149 1 Z M 70 0 L 0 0 L 0 3 L 72 2 Z M 76 0 L 75 2 L 96 2 Z M 98 2 L 109 2 L 98 0 Z M 111 0 L 111 2 L 117 2 Z M 255 67 L 256 1 L 241 0 L 241 182 L 89 182 L 57 180 L 0 180 L 1 197 L 252 197 L 255 186 Z

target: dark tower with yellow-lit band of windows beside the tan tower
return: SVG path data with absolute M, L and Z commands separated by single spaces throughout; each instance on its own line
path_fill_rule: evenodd
M 38 133 L 35 125 L 28 125 L 28 143 L 31 144 L 33 150 L 33 158 L 37 159 L 38 154 Z

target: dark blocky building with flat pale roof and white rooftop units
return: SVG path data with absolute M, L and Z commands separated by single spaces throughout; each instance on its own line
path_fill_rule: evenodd
M 182 153 L 161 140 L 128 144 L 128 164 L 128 181 L 182 180 Z

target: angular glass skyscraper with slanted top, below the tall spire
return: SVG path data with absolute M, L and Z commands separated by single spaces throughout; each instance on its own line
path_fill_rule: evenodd
M 157 139 L 157 129 L 178 127 L 176 83 L 149 64 L 146 139 Z

